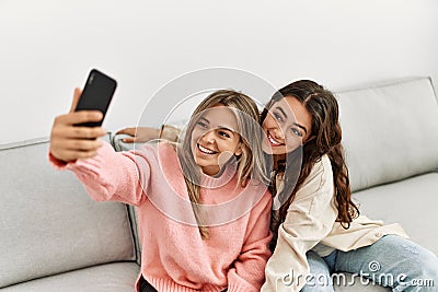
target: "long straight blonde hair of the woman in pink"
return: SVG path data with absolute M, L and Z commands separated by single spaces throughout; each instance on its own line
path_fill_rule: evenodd
M 232 110 L 237 117 L 239 136 L 242 143 L 242 154 L 238 160 L 238 184 L 244 187 L 247 179 L 268 183 L 266 176 L 266 162 L 262 151 L 262 128 L 260 127 L 260 112 L 254 101 L 243 93 L 232 90 L 219 90 L 208 95 L 194 110 L 188 121 L 186 133 L 178 147 L 178 159 L 184 173 L 188 197 L 198 223 L 199 233 L 203 238 L 208 238 L 208 229 L 200 224 L 203 214 L 199 199 L 200 167 L 196 164 L 192 153 L 192 132 L 200 114 L 214 106 L 223 105 Z M 203 214 L 203 215 L 201 215 Z

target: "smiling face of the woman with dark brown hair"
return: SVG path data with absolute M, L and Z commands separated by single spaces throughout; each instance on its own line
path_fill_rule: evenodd
M 262 128 L 267 138 L 263 141 L 263 151 L 283 155 L 309 140 L 312 116 L 296 97 L 285 96 L 273 104 Z

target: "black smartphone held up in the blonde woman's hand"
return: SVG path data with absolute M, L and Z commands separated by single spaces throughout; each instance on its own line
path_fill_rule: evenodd
M 74 112 L 84 109 L 100 110 L 103 114 L 103 118 L 100 121 L 77 124 L 74 126 L 102 126 L 103 119 L 105 118 L 106 110 L 110 107 L 110 103 L 113 98 L 116 87 L 117 82 L 114 79 L 96 69 L 92 69 L 87 79 L 87 83 L 83 87 L 82 94 L 79 97 L 79 102 L 76 106 Z

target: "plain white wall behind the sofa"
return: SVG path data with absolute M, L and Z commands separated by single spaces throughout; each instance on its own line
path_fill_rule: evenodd
M 209 67 L 274 86 L 438 84 L 437 13 L 436 0 L 0 0 L 0 143 L 48 136 L 94 67 L 119 84 L 108 130 L 135 125 L 169 81 Z

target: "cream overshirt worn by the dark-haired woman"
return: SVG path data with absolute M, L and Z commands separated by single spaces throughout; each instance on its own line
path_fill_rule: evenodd
M 383 225 L 382 221 L 360 215 L 345 230 L 336 219 L 332 165 L 324 155 L 297 191 L 278 229 L 277 246 L 267 262 L 262 292 L 300 291 L 309 273 L 306 253 L 310 249 L 326 256 L 333 249 L 348 252 L 371 245 L 385 234 L 407 237 L 400 224 Z

